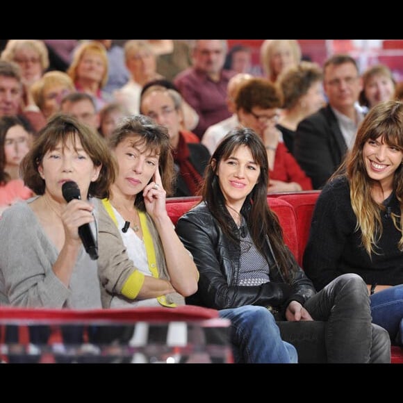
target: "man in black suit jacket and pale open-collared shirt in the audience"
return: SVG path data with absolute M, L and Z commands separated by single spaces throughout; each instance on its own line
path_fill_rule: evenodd
M 294 155 L 320 189 L 352 147 L 363 120 L 359 107 L 362 79 L 352 56 L 335 54 L 324 63 L 324 92 L 327 106 L 299 122 L 294 140 Z

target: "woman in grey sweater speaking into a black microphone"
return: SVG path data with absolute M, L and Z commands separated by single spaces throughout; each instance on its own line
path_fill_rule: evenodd
M 74 117 L 55 115 L 21 163 L 35 197 L 0 219 L 0 305 L 48 309 L 101 308 L 97 261 L 85 252 L 79 227 L 97 239 L 98 198 L 108 195 L 115 161 L 105 141 Z M 81 199 L 67 203 L 63 184 Z

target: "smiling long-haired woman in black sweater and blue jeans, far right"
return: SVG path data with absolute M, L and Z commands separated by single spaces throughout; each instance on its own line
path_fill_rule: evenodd
M 304 268 L 320 290 L 359 274 L 372 322 L 403 345 L 403 103 L 374 106 L 315 206 Z

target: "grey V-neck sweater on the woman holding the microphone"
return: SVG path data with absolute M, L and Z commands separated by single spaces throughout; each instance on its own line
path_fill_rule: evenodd
M 0 305 L 101 308 L 97 261 L 92 261 L 83 247 L 69 288 L 54 274 L 58 250 L 28 206 L 34 199 L 11 206 L 0 219 Z M 91 201 L 97 217 L 99 201 Z

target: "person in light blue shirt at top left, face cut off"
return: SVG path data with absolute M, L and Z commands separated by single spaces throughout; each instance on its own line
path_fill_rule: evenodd
M 94 39 L 104 45 L 108 54 L 108 81 L 104 85 L 104 92 L 111 96 L 115 90 L 119 90 L 130 78 L 130 73 L 124 63 L 124 50 L 117 44 L 113 44 L 111 39 Z

